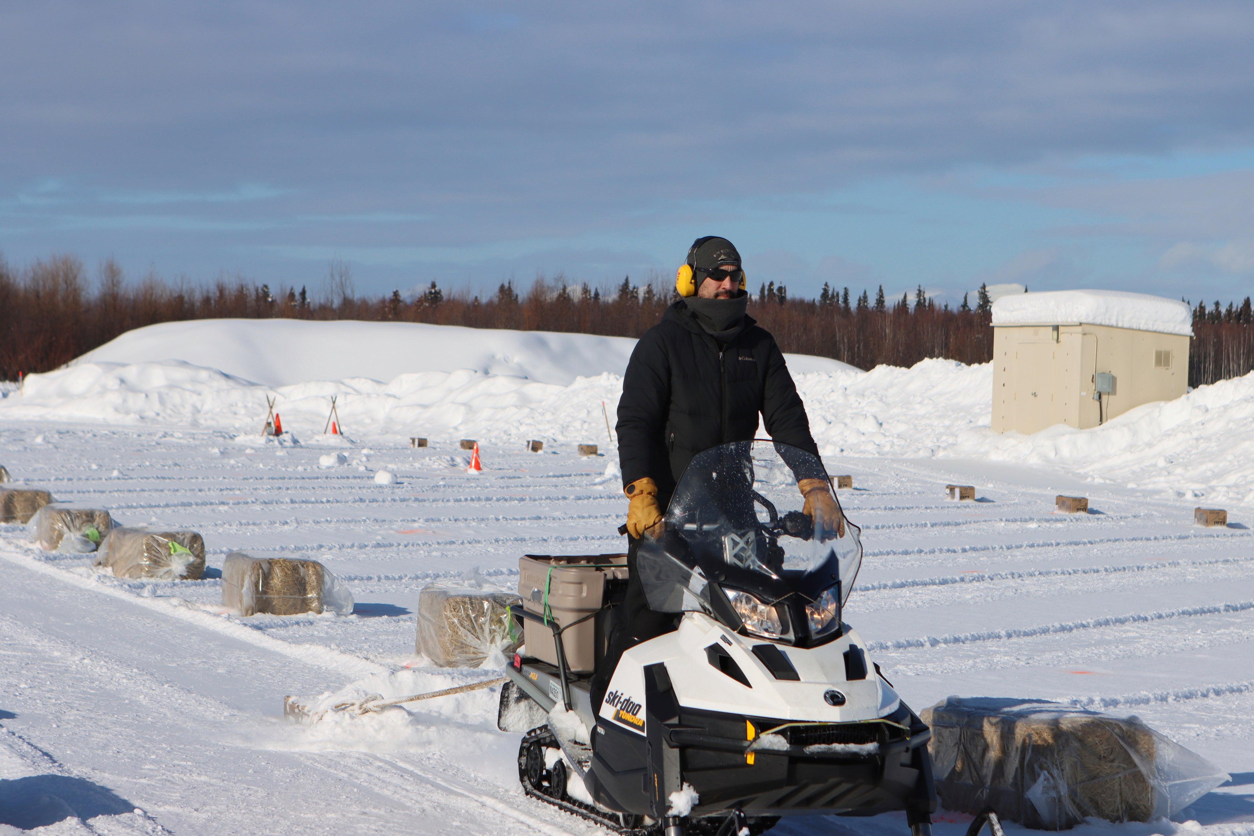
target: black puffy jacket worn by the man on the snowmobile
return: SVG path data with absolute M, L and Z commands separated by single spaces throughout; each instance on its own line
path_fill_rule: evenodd
M 757 432 L 819 454 L 805 405 L 784 354 L 751 316 L 725 346 L 705 333 L 683 301 L 636 344 L 618 402 L 623 486 L 657 482 L 662 508 L 692 457 Z

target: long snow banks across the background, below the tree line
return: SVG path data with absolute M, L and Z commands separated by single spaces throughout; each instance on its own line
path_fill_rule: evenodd
M 213 324 L 218 325 L 214 362 L 233 372 L 186 360 L 201 356 L 192 353 L 183 353 L 181 359 L 155 359 L 178 356 L 189 344 L 181 329 L 207 339 L 207 324 L 150 326 L 125 334 L 65 369 L 30 375 L 21 397 L 9 393 L 0 399 L 0 418 L 161 423 L 252 436 L 263 423 L 266 397 L 277 395 L 276 409 L 283 426 L 308 441 L 322 432 L 335 395 L 344 427 L 355 438 L 404 443 L 410 436 L 424 436 L 436 446 L 459 438 L 599 443 L 606 439 L 602 405 L 613 423 L 622 393 L 621 374 L 604 365 L 626 363 L 632 344 L 582 334 L 438 325 L 285 320 Z M 400 330 L 391 330 L 393 325 Z M 267 329 L 273 334 L 266 335 Z M 372 333 L 370 340 L 379 334 L 400 336 L 393 348 L 365 336 L 355 341 L 366 331 Z M 238 343 L 231 341 L 232 335 L 241 334 Z M 477 338 L 475 356 L 483 368 L 453 368 L 461 359 L 458 346 L 463 344 L 458 340 L 465 334 Z M 157 340 L 158 335 L 164 335 L 166 341 Z M 316 356 L 330 344 L 346 346 L 344 356 L 335 360 L 340 365 L 334 368 L 339 369 L 380 374 L 393 363 L 387 358 L 400 355 L 401 349 L 430 367 L 445 368 L 406 372 L 386 383 L 370 377 L 315 378 L 276 387 L 253 382 L 308 374 L 319 367 L 301 358 Z M 143 345 L 153 359 L 90 359 L 124 356 L 118 346 L 128 345 Z M 278 368 L 281 363 L 277 358 L 256 359 L 255 351 L 258 346 L 277 351 L 280 345 L 282 356 L 292 358 L 292 370 L 267 372 L 267 364 Z M 569 354 L 554 346 L 564 346 L 562 350 Z M 202 348 L 209 351 L 211 346 Z M 350 363 L 351 358 L 356 359 Z M 505 368 L 507 360 L 512 364 L 508 368 L 537 377 L 492 370 Z M 1201 387 L 1176 400 L 1141 405 L 1102 427 L 1081 431 L 1056 426 L 1025 437 L 989 429 L 989 364 L 967 367 L 930 359 L 909 369 L 878 367 L 860 372 L 834 360 L 789 355 L 789 365 L 815 439 L 828 457 L 947 457 L 1057 466 L 1087 473 L 1093 481 L 1164 491 L 1181 500 L 1205 497 L 1254 505 L 1254 374 Z M 250 443 L 256 441 L 252 436 Z

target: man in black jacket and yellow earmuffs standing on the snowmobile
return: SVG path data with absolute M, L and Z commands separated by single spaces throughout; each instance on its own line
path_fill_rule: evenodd
M 619 626 L 592 680 L 593 704 L 603 698 L 627 648 L 675 629 L 673 614 L 648 609 L 635 571 L 636 555 L 646 532 L 660 533 L 662 508 L 692 457 L 754 438 L 759 413 L 771 438 L 819 456 L 784 354 L 746 314 L 745 271 L 731 241 L 716 236 L 693 241 L 675 289 L 682 299 L 637 343 L 618 402 L 631 577 Z M 805 513 L 843 533 L 844 516 L 826 481 L 804 469 L 795 474 L 806 497 Z

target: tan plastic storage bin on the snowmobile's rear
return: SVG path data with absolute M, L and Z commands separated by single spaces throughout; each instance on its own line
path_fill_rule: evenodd
M 601 609 L 606 580 L 627 580 L 627 555 L 527 555 L 518 561 L 518 595 L 529 613 L 551 618 L 562 626 Z M 547 601 L 545 601 L 547 598 Z M 604 655 L 608 636 L 599 618 L 591 618 L 562 634 L 571 673 L 589 674 Z M 535 621 L 524 623 L 527 655 L 557 664 L 553 631 Z

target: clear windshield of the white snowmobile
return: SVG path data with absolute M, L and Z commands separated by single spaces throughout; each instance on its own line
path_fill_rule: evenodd
M 749 599 L 736 592 L 747 592 L 765 606 L 795 610 L 789 635 L 804 639 L 805 606 L 843 606 L 861 564 L 859 530 L 841 517 L 811 453 L 770 441 L 698 453 L 675 490 L 665 531 L 646 537 L 637 555 L 648 605 L 727 621 L 727 600 L 740 606 Z

